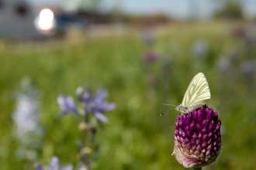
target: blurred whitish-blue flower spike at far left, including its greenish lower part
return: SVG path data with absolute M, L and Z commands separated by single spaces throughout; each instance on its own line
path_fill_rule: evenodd
M 43 131 L 39 121 L 40 90 L 33 86 L 29 77 L 22 78 L 18 90 L 14 93 L 16 108 L 12 114 L 15 125 L 14 133 L 19 147 L 16 148 L 17 158 L 33 161 L 36 148 L 42 145 Z

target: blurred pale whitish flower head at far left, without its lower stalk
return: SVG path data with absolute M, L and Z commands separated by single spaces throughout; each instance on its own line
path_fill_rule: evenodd
M 16 125 L 16 135 L 23 144 L 33 143 L 31 134 L 36 134 L 37 137 L 42 134 L 39 122 L 40 91 L 36 90 L 28 77 L 24 77 L 15 97 L 16 109 L 12 119 Z

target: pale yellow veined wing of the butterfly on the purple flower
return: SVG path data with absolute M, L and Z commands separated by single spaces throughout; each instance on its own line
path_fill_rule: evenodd
M 210 98 L 211 93 L 209 92 L 209 85 L 206 77 L 203 73 L 198 73 L 194 76 L 185 92 L 182 106 L 189 107 L 189 111 L 191 111 L 202 107 Z

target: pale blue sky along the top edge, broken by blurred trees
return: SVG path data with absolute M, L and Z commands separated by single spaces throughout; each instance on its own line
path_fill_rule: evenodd
M 76 8 L 77 4 L 86 0 L 27 0 L 32 4 L 54 3 L 69 8 Z M 69 2 L 69 3 L 68 3 Z M 196 15 L 199 19 L 209 19 L 213 12 L 223 5 L 222 0 L 101 0 L 100 8 L 108 11 L 120 8 L 128 14 L 147 15 L 150 13 L 164 12 L 178 19 L 188 19 Z M 254 5 L 256 0 L 243 0 L 244 4 Z M 68 4 L 68 5 L 67 5 Z

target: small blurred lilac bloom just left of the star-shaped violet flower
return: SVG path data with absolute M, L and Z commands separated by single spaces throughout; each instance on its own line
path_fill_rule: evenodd
M 73 97 L 66 97 L 64 94 L 61 94 L 57 97 L 57 103 L 61 107 L 61 114 L 77 114 L 77 106 L 74 103 Z

